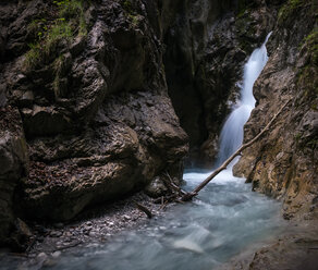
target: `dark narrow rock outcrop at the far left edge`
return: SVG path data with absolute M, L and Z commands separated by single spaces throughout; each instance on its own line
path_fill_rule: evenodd
M 27 146 L 20 113 L 11 107 L 0 108 L 0 243 L 10 244 L 19 229 L 13 208 L 15 188 L 27 176 Z M 11 237 L 11 238 L 10 238 Z

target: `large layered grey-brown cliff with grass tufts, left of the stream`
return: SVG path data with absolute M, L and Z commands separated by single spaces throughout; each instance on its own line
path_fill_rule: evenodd
M 16 137 L 1 136 L 10 222 L 13 194 L 21 216 L 68 220 L 166 172 L 181 179 L 187 135 L 168 97 L 157 10 L 1 1 L 1 124 L 8 108 L 22 116 Z

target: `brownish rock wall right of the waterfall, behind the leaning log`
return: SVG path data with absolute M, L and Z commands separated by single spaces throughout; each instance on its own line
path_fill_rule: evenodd
M 268 42 L 269 61 L 254 87 L 257 107 L 245 125 L 245 140 L 291 101 L 234 168 L 255 191 L 281 198 L 286 219 L 317 218 L 317 38 L 315 1 L 285 1 Z

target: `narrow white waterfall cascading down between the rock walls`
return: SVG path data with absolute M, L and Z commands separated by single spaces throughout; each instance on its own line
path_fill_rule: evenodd
M 253 86 L 260 72 L 267 63 L 268 56 L 266 42 L 270 37 L 269 33 L 265 42 L 253 51 L 247 63 L 244 65 L 243 85 L 241 87 L 241 100 L 229 115 L 220 134 L 220 150 L 217 165 L 227 160 L 243 143 L 243 127 L 247 122 L 252 110 L 255 107 Z

